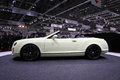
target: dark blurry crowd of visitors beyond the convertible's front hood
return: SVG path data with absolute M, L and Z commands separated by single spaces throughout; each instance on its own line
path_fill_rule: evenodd
M 25 38 L 35 38 L 35 37 L 44 37 L 45 34 L 31 34 L 28 33 L 26 36 L 23 36 L 22 33 L 15 34 L 11 32 L 3 32 L 2 35 L 0 35 L 0 52 L 2 51 L 10 51 L 12 44 L 16 40 L 25 39 Z

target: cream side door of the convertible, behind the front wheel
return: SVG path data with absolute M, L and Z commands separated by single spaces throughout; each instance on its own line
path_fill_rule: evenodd
M 77 39 L 55 38 L 45 40 L 45 52 L 74 52 L 76 50 Z

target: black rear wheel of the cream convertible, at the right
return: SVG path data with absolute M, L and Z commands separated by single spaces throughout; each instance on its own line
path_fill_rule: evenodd
M 85 56 L 88 59 L 92 59 L 92 60 L 98 59 L 100 57 L 100 54 L 101 54 L 101 48 L 95 44 L 90 45 L 85 52 Z

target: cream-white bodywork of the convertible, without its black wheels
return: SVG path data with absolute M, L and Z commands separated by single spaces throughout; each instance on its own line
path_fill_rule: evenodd
M 59 32 L 59 31 L 58 31 Z M 49 38 L 57 32 L 43 38 L 29 38 L 15 41 L 12 46 L 12 55 L 20 56 L 21 48 L 27 44 L 36 45 L 41 57 L 50 56 L 84 56 L 89 45 L 96 44 L 102 53 L 108 51 L 108 45 L 104 39 L 99 38 Z M 14 46 L 14 44 L 17 44 Z

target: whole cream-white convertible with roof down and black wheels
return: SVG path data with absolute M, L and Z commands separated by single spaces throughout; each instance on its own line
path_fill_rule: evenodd
M 24 60 L 37 60 L 39 57 L 86 56 L 98 59 L 100 54 L 108 51 L 104 39 L 60 38 L 60 31 L 42 38 L 17 40 L 12 46 L 12 55 L 21 56 Z

